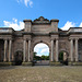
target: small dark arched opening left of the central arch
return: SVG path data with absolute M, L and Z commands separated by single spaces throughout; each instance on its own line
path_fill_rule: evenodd
M 17 50 L 14 56 L 15 66 L 21 66 L 23 62 L 23 51 Z

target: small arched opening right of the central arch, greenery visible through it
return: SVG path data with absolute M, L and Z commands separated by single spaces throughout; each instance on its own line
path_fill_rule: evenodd
M 69 55 L 68 55 L 67 51 L 65 51 L 65 50 L 60 51 L 59 52 L 59 61 L 60 61 L 60 63 L 68 66 L 68 56 Z

